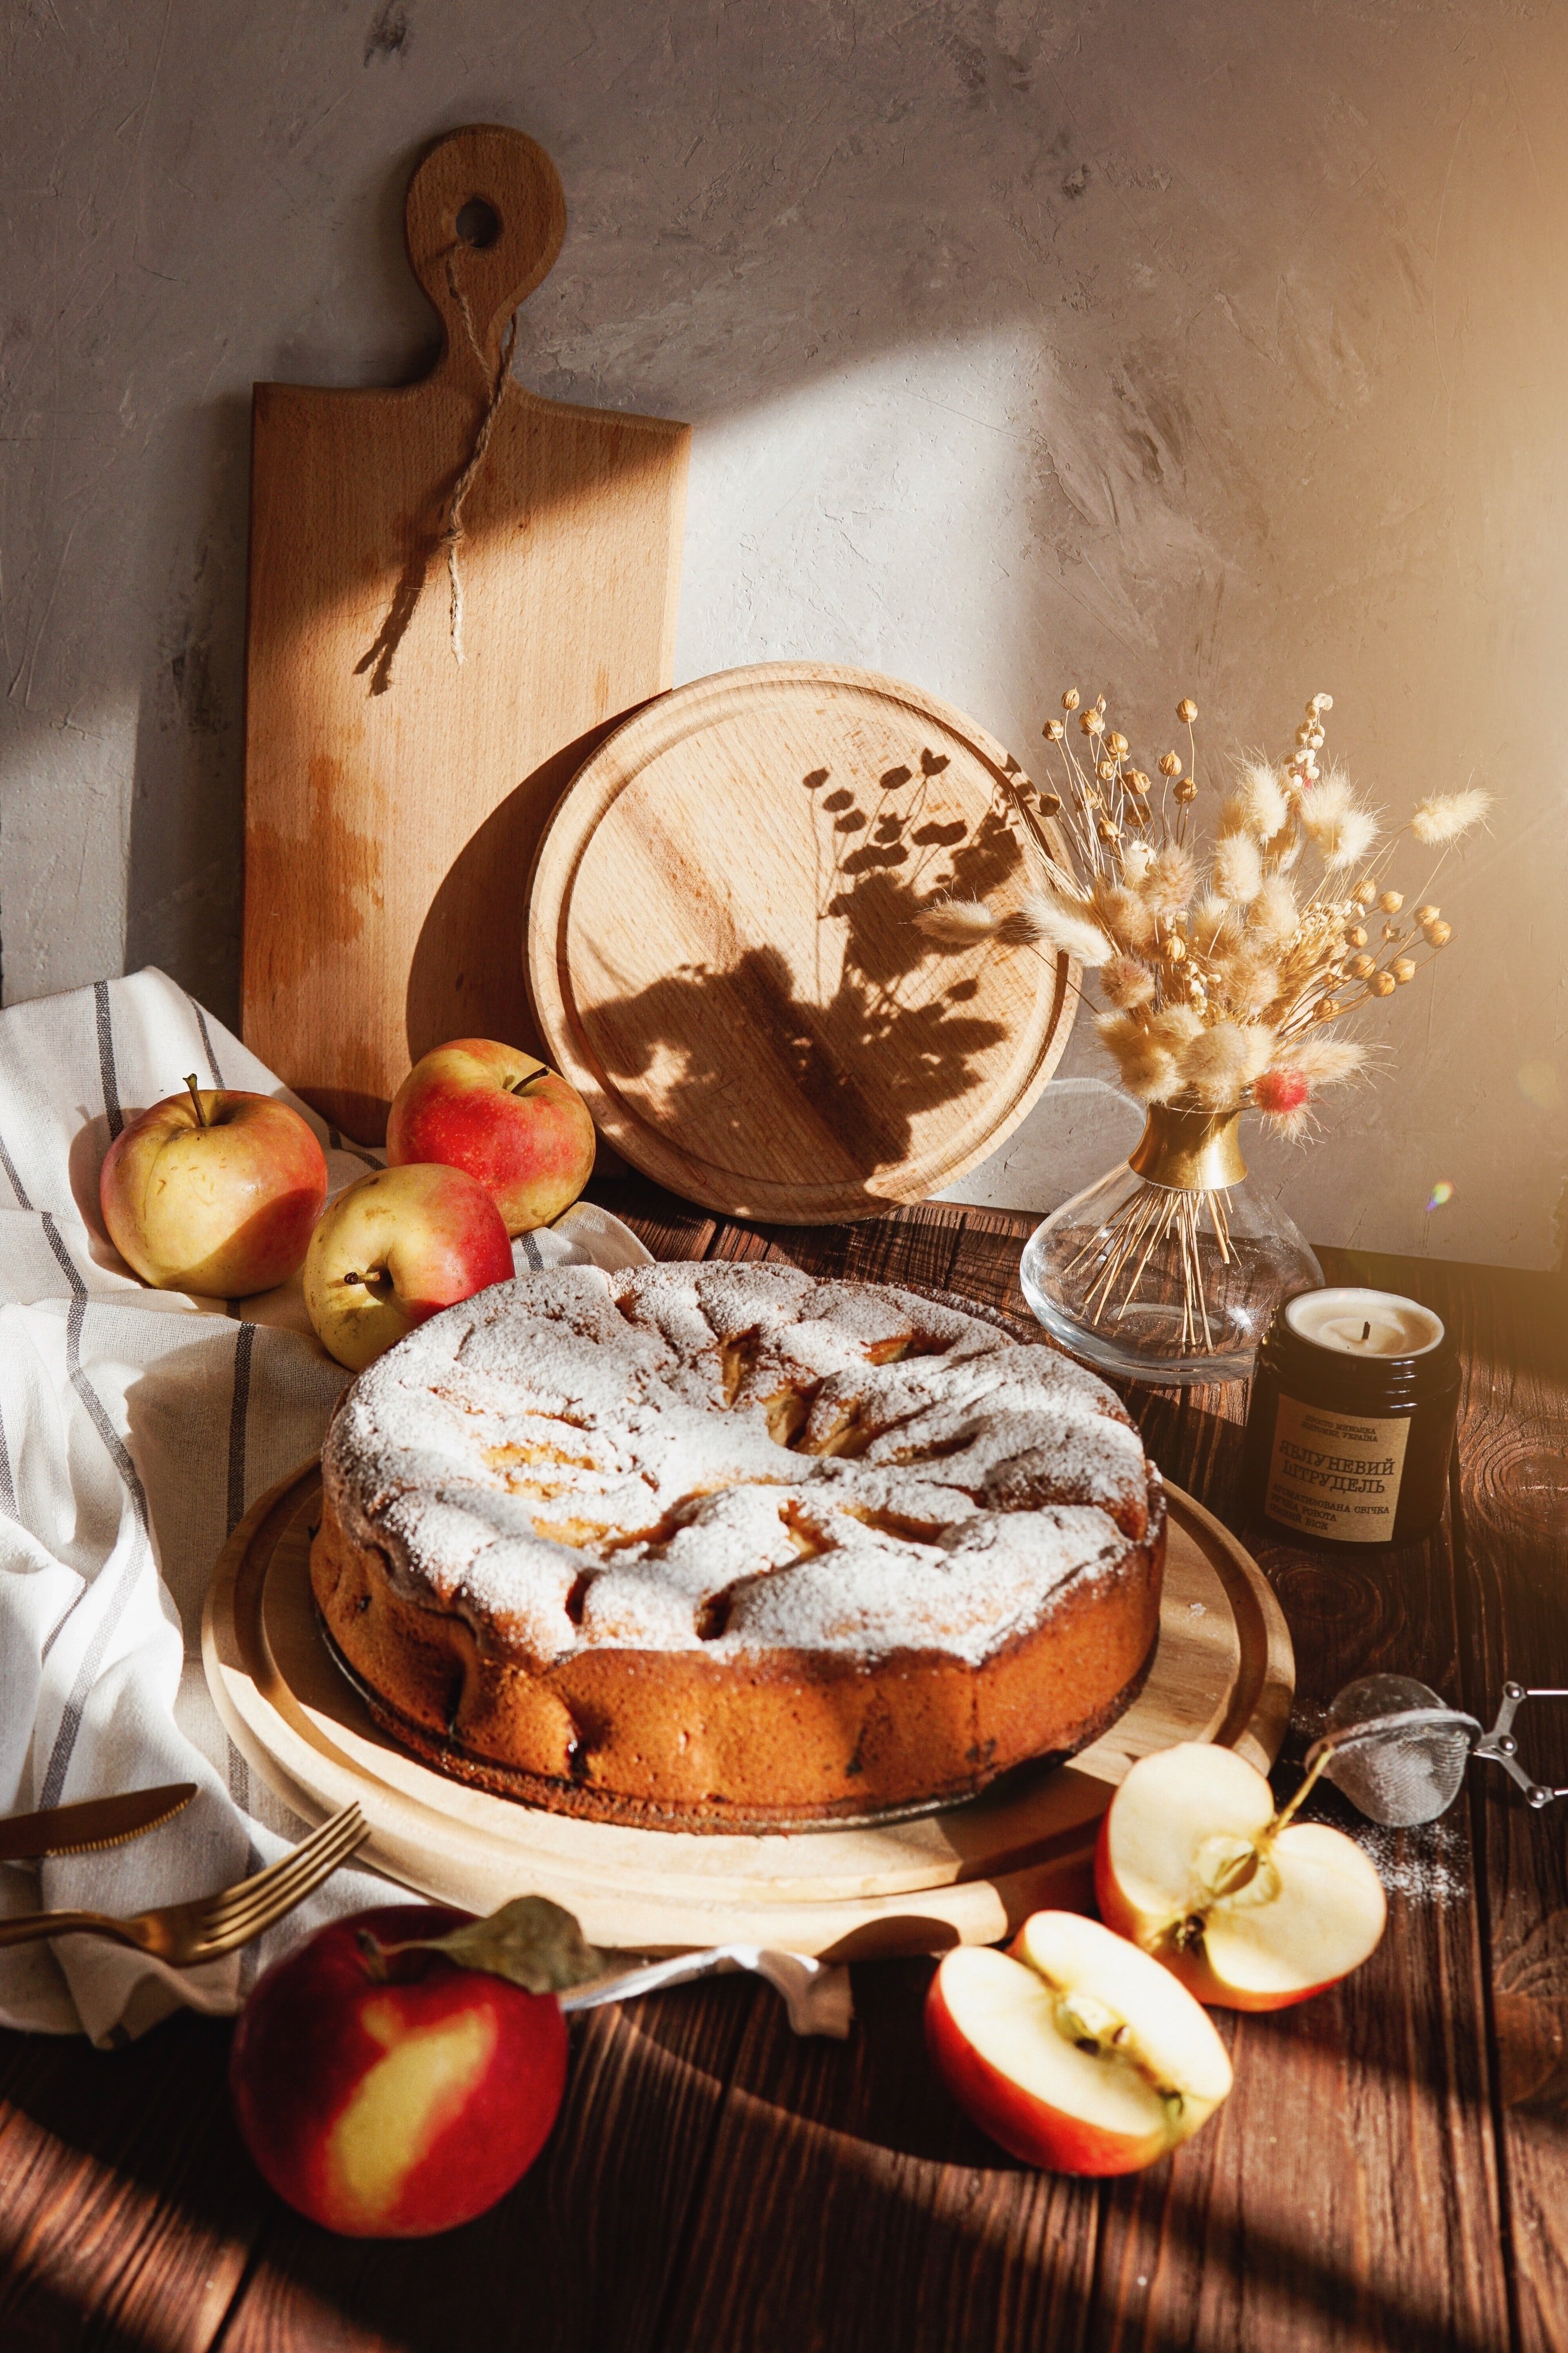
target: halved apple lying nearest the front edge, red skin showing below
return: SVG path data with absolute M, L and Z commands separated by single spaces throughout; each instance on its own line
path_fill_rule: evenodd
M 1187 1988 L 1079 1913 L 1034 1913 L 1009 1953 L 945 1953 L 926 2045 L 980 2132 L 1058 2174 L 1133 2174 L 1229 2092 L 1225 2045 Z

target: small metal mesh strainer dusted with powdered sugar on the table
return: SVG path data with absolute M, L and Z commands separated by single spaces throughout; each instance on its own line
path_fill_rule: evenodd
M 1307 1784 L 1298 1802 L 1324 1774 L 1368 1821 L 1403 1831 L 1448 1812 L 1472 1755 L 1502 1765 L 1535 1807 L 1568 1798 L 1568 1788 L 1533 1781 L 1519 1762 L 1514 1715 L 1526 1699 L 1568 1699 L 1568 1692 L 1505 1682 L 1497 1720 L 1483 1732 L 1474 1715 L 1446 1708 L 1436 1692 L 1408 1675 L 1347 1682 L 1328 1708 L 1324 1737 L 1307 1751 Z

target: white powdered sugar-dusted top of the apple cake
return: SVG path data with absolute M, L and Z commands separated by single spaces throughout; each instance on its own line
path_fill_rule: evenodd
M 1147 1527 L 1093 1374 L 893 1285 L 559 1268 L 348 1391 L 331 1504 L 400 1591 L 541 1664 L 592 1647 L 983 1664 Z

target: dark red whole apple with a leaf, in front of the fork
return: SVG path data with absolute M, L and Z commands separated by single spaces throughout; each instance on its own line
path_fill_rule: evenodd
M 388 1904 L 275 1962 L 235 2028 L 228 2080 L 252 2158 L 348 2238 L 428 2238 L 503 2198 L 567 2087 L 552 1993 L 442 1953 L 383 1953 L 465 1913 Z

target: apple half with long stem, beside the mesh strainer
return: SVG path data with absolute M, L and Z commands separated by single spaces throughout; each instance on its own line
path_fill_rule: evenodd
M 1100 1918 L 1201 2000 L 1284 2009 L 1361 1967 L 1382 1937 L 1382 1882 L 1354 1838 L 1291 1821 L 1234 1748 L 1140 1758 L 1095 1849 Z

